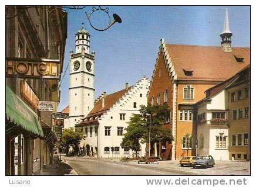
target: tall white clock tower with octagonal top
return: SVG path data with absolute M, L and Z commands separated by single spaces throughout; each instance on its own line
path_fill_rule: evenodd
M 69 125 L 74 127 L 94 107 L 95 53 L 89 54 L 90 34 L 76 33 L 76 53 L 70 51 Z

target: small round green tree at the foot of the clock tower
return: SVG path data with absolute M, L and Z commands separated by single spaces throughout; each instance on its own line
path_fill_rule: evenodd
M 69 147 L 75 150 L 75 154 L 78 153 L 78 146 L 81 140 L 85 140 L 82 131 L 74 130 L 73 128 L 64 129 L 62 137 L 60 138 L 60 146 L 65 150 L 68 155 Z

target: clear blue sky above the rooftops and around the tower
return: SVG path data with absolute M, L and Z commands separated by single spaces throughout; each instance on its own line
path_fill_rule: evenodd
M 135 84 L 146 75 L 151 79 L 159 51 L 160 39 L 173 44 L 220 46 L 226 6 L 108 6 L 122 23 L 105 32 L 90 27 L 85 11 L 68 11 L 68 39 L 63 71 L 69 63 L 69 51 L 75 51 L 75 33 L 85 23 L 90 33 L 90 51 L 96 52 L 95 97 L 123 89 L 125 82 Z M 106 8 L 106 6 L 102 6 Z M 250 46 L 250 6 L 228 6 L 232 46 Z M 97 14 L 93 21 L 104 27 L 105 15 Z M 69 68 L 60 90 L 59 111 L 69 103 Z

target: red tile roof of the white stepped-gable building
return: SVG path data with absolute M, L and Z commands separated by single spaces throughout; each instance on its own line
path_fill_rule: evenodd
M 83 122 L 80 122 L 77 126 L 84 126 L 86 124 L 96 123 L 98 118 L 95 119 L 95 117 L 102 116 L 104 113 L 106 113 L 107 110 L 113 107 L 114 103 L 119 101 L 119 99 L 122 98 L 122 96 L 130 90 L 130 88 L 131 87 L 129 87 L 127 90 L 122 89 L 121 91 L 114 92 L 110 95 L 106 95 L 104 98 L 105 106 L 103 108 L 102 108 L 102 99 L 100 99 L 95 104 L 95 107 L 85 117 L 85 120 L 83 120 Z

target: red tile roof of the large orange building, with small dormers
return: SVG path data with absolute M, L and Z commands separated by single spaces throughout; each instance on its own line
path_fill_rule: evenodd
M 166 44 L 178 79 L 225 80 L 250 64 L 250 47 L 232 47 L 226 53 L 221 47 Z M 238 63 L 235 57 L 244 58 Z M 193 71 L 193 75 L 185 75 Z

